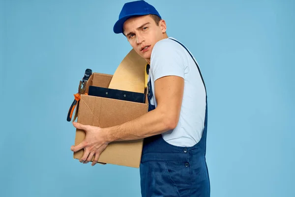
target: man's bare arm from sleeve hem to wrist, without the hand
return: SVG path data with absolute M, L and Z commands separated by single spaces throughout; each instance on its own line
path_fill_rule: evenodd
M 103 129 L 107 142 L 141 139 L 174 129 L 179 119 L 183 89 L 182 77 L 157 79 L 154 91 L 157 107 L 132 121 Z

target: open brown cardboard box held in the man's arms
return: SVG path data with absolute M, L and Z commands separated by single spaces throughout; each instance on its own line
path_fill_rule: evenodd
M 112 76 L 110 74 L 94 72 L 87 82 L 86 93 L 88 93 L 90 85 L 108 88 Z M 147 112 L 147 103 L 81 95 L 75 117 L 78 117 L 78 123 L 106 128 L 133 120 Z M 77 129 L 75 146 L 81 143 L 84 138 L 85 131 Z M 111 142 L 101 153 L 98 162 L 138 168 L 141 161 L 142 148 L 143 139 Z M 74 153 L 74 158 L 80 159 L 83 154 L 84 150 L 82 149 Z

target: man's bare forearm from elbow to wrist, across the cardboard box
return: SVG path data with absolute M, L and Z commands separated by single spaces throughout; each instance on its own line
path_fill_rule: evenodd
M 174 129 L 176 122 L 171 115 L 156 108 L 132 121 L 104 130 L 108 142 L 135 140 Z

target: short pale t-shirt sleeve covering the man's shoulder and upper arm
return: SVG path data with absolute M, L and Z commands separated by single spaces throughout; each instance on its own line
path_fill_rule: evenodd
M 169 75 L 184 78 L 184 54 L 173 40 L 160 40 L 151 53 L 150 70 L 154 81 Z

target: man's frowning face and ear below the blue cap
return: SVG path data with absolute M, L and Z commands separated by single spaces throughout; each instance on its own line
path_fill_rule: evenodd
M 149 15 L 128 19 L 124 23 L 123 30 L 132 48 L 148 63 L 155 43 L 167 37 L 165 21 L 161 20 L 157 26 Z

